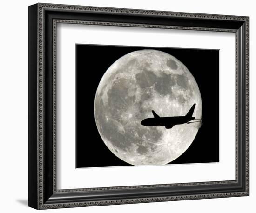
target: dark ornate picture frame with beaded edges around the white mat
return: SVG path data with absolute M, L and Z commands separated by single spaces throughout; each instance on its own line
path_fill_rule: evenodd
M 56 24 L 236 33 L 236 180 L 56 189 Z M 29 6 L 29 202 L 36 209 L 249 195 L 249 17 L 38 3 Z

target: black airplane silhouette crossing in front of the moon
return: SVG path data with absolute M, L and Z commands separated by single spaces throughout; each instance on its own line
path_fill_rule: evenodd
M 152 110 L 154 118 L 146 118 L 141 121 L 143 126 L 165 126 L 166 129 L 171 129 L 173 126 L 178 124 L 190 124 L 201 121 L 192 121 L 190 120 L 201 120 L 201 118 L 192 117 L 195 110 L 195 104 L 189 109 L 189 112 L 185 116 L 175 116 L 175 117 L 160 117 L 158 114 Z

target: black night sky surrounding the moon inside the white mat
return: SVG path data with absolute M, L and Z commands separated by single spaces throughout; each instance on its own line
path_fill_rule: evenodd
M 94 98 L 101 77 L 121 56 L 142 49 L 169 53 L 189 69 L 202 97 L 202 127 L 193 143 L 169 164 L 219 162 L 219 51 L 163 47 L 76 45 L 76 167 L 130 166 L 101 140 Z

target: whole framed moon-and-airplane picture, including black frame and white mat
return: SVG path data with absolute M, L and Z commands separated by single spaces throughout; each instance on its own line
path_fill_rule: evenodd
M 29 6 L 29 206 L 249 195 L 249 17 Z

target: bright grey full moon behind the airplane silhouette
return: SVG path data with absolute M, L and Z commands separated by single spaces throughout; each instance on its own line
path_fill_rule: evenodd
M 196 104 L 201 118 L 200 90 L 188 68 L 158 50 L 139 50 L 116 60 L 104 73 L 94 101 L 97 129 L 105 145 L 131 165 L 167 164 L 191 145 L 201 122 L 142 126 L 153 117 L 184 116 Z

